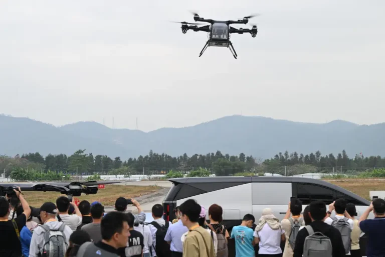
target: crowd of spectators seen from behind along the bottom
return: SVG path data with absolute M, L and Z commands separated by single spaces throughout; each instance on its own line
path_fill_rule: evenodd
M 229 233 L 220 205 L 212 204 L 207 211 L 193 199 L 176 207 L 172 222 L 163 219 L 163 206 L 155 204 L 153 221 L 147 224 L 134 199 L 119 197 L 115 211 L 105 213 L 98 201 L 77 206 L 66 196 L 33 208 L 20 188 L 14 192 L 0 197 L 2 257 L 228 257 L 229 240 L 235 241 L 237 257 L 358 257 L 362 232 L 366 256 L 385 256 L 383 199 L 373 200 L 356 219 L 355 206 L 344 199 L 328 206 L 313 201 L 303 209 L 294 198 L 281 221 L 266 208 L 258 220 L 246 214 Z M 136 209 L 128 212 L 128 204 Z M 374 219 L 367 219 L 370 212 Z

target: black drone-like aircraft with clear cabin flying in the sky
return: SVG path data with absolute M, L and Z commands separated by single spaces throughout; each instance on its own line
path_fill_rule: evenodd
M 227 47 L 230 49 L 231 53 L 233 54 L 234 58 L 237 59 L 238 55 L 237 52 L 234 49 L 233 44 L 230 41 L 230 34 L 232 33 L 238 33 L 238 34 L 244 34 L 244 33 L 250 33 L 253 38 L 257 36 L 258 29 L 257 25 L 252 25 L 252 29 L 243 29 L 243 28 L 233 28 L 230 25 L 231 24 L 248 24 L 249 19 L 256 17 L 258 15 L 251 15 L 246 16 L 242 20 L 237 21 L 215 21 L 211 19 L 204 19 L 199 17 L 197 13 L 194 14 L 194 21 L 196 22 L 206 22 L 210 23 L 210 25 L 198 27 L 197 25 L 203 25 L 203 23 L 188 23 L 188 22 L 175 22 L 175 23 L 181 23 L 182 24 L 182 33 L 187 33 L 188 30 L 193 31 L 205 31 L 209 33 L 209 40 L 206 42 L 206 45 L 203 47 L 201 53 L 199 54 L 199 57 L 203 55 L 203 53 L 206 51 L 206 49 L 209 46 L 214 47 Z

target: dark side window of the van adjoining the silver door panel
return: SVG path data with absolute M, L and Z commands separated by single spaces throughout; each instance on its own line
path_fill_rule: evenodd
M 316 200 L 322 200 L 326 204 L 330 204 L 334 199 L 334 190 L 318 185 L 297 184 L 297 198 L 302 204 L 309 204 Z

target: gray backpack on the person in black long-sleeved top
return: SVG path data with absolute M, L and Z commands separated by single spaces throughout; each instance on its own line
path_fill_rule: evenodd
M 332 257 L 333 248 L 330 238 L 321 232 L 315 232 L 310 225 L 305 226 L 308 236 L 303 244 L 303 257 Z

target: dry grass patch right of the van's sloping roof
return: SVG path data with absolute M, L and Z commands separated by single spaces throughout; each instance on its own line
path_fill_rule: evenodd
M 343 187 L 354 194 L 357 194 L 367 200 L 369 198 L 369 191 L 385 190 L 385 181 L 373 179 L 347 179 L 347 180 L 325 180 L 329 183 Z

